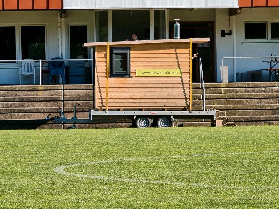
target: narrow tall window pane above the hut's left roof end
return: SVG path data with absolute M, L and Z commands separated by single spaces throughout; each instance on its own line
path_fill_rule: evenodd
M 108 11 L 96 11 L 96 41 L 108 41 Z

